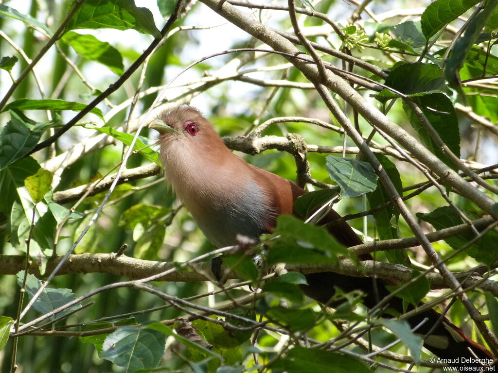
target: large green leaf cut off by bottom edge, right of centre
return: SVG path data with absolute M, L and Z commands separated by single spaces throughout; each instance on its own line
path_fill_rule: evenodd
M 288 373 L 372 373 L 361 360 L 349 355 L 327 350 L 294 347 L 286 356 L 280 358 L 271 366 Z

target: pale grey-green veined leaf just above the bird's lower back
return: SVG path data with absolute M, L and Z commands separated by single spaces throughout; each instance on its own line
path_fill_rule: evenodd
M 329 155 L 326 166 L 331 179 L 341 187 L 344 198 L 358 197 L 377 186 L 377 175 L 370 163 Z

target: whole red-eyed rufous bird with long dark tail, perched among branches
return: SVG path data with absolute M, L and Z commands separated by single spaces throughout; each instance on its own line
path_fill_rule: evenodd
M 159 132 L 159 157 L 166 180 L 216 247 L 236 245 L 238 234 L 258 240 L 261 234 L 272 231 L 277 215 L 293 214 L 295 199 L 305 193 L 296 184 L 233 154 L 213 125 L 191 106 L 164 113 L 149 127 Z M 338 223 L 327 224 L 333 221 Z M 334 210 L 321 224 L 327 224 L 330 233 L 347 247 L 362 244 Z M 360 259 L 372 257 L 366 255 Z M 302 286 L 304 293 L 324 304 L 334 295 L 334 286 L 345 292 L 363 291 L 364 304 L 369 308 L 377 303 L 370 278 L 327 272 L 306 275 L 306 280 L 308 284 Z M 382 281 L 376 281 L 376 286 L 379 299 L 389 294 Z M 403 313 L 399 298 L 393 298 L 389 307 Z M 446 318 L 441 322 L 440 317 L 435 310 L 429 310 L 407 320 L 412 328 L 421 324 L 416 333 L 422 336 L 434 329 L 424 339 L 425 348 L 441 359 L 458 358 L 462 362 L 465 358 L 468 363 L 449 363 L 456 369 L 465 366 L 463 370 L 468 370 L 467 367 L 472 366 L 473 371 L 478 372 L 482 364 L 476 360 L 486 359 L 487 363 L 493 360 L 487 349 Z

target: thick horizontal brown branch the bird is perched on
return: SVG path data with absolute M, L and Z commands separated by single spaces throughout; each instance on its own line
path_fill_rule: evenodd
M 60 262 L 61 258 L 50 258 L 47 262 L 46 273 L 50 273 Z M 2 275 L 15 275 L 24 269 L 25 257 L 21 255 L 0 255 L 0 273 Z M 161 272 L 178 268 L 179 263 L 154 262 L 141 259 L 130 258 L 125 255 L 117 257 L 116 254 L 75 254 L 61 267 L 57 276 L 75 273 L 108 273 L 116 276 L 123 276 L 128 279 L 143 279 Z M 192 271 L 175 271 L 157 281 L 206 281 L 213 280 L 211 275 L 211 262 L 200 262 L 191 264 Z M 403 283 L 411 279 L 412 270 L 399 264 L 379 263 L 374 261 L 364 261 L 355 263 L 350 259 L 343 259 L 336 264 L 327 265 L 287 265 L 288 271 L 300 272 L 302 274 L 317 272 L 337 272 L 343 275 L 354 277 L 372 277 L 384 280 L 391 280 Z M 30 273 L 40 277 L 39 267 L 32 264 Z M 474 276 L 468 278 L 468 272 L 455 274 L 460 280 L 466 280 L 465 286 L 477 285 L 477 287 L 492 292 L 498 296 L 498 282 L 484 280 L 475 270 L 471 270 Z M 224 271 L 224 273 L 226 273 Z M 228 273 L 226 279 L 238 279 L 235 273 Z M 441 275 L 431 273 L 427 275 L 433 289 L 447 288 Z

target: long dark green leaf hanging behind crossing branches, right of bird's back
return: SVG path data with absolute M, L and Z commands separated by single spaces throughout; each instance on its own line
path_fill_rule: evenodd
M 384 171 L 386 172 L 389 180 L 392 182 L 399 195 L 402 195 L 403 186 L 401 184 L 401 178 L 399 177 L 396 166 L 382 154 L 375 154 L 375 157 L 384 168 Z M 391 200 L 389 194 L 383 187 L 382 183 L 380 183 L 380 181 L 377 181 L 377 187 L 372 193 L 368 195 L 368 198 L 371 208 L 375 208 Z M 375 219 L 377 235 L 380 240 L 399 238 L 399 211 L 392 204 L 382 207 L 382 209 L 378 211 L 374 211 L 373 218 Z M 410 259 L 408 258 L 406 250 L 386 250 L 384 254 L 391 263 L 398 263 L 404 266 L 410 265 Z

